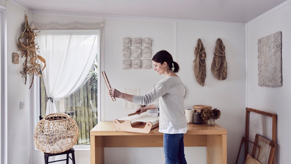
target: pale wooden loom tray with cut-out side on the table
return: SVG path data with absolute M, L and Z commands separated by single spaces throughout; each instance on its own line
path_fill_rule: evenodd
M 145 115 L 142 115 L 140 118 L 142 118 L 143 116 Z M 129 117 L 132 117 L 132 116 L 129 116 Z M 150 117 L 150 116 L 146 116 L 146 117 Z M 154 122 L 154 125 L 153 125 L 151 121 L 148 121 L 148 122 L 136 121 L 138 119 L 139 117 L 135 118 L 134 121 L 115 119 L 113 120 L 113 124 L 117 129 L 120 129 L 120 131 L 137 132 L 137 133 L 150 133 L 150 130 L 159 126 L 158 121 L 153 121 Z

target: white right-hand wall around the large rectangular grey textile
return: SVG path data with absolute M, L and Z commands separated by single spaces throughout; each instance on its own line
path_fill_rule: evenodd
M 286 5 L 286 6 L 285 6 Z M 284 7 L 283 7 L 284 6 Z M 269 15 L 268 15 L 269 14 Z M 276 162 L 290 163 L 290 98 L 291 98 L 291 1 L 286 1 L 247 23 L 247 106 L 277 114 Z M 258 86 L 258 39 L 282 31 L 283 86 Z

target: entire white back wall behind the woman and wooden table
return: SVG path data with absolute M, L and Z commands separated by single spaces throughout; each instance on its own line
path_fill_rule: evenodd
M 101 18 L 59 16 L 33 13 L 33 22 L 36 23 L 91 23 Z M 173 56 L 177 48 L 177 62 L 181 66 L 178 74 L 187 88 L 185 108 L 197 104 L 212 105 L 221 109 L 221 119 L 218 124 L 228 129 L 228 162 L 234 163 L 240 137 L 244 133 L 245 108 L 245 26 L 237 23 L 217 23 L 194 21 L 194 23 L 178 22 L 177 47 L 175 47 L 175 23 L 166 21 L 130 20 L 105 18 L 105 58 L 101 66 L 109 76 L 111 86 L 123 91 L 124 88 L 140 88 L 141 94 L 149 91 L 154 84 L 161 80 L 153 69 L 122 69 L 122 38 L 150 37 L 153 39 L 153 54 L 159 50 L 168 50 Z M 221 38 L 226 45 L 226 59 L 228 61 L 228 78 L 219 81 L 211 74 L 210 66 L 213 58 L 214 46 L 217 38 Z M 201 87 L 195 80 L 192 71 L 194 47 L 198 38 L 201 38 L 207 53 L 206 86 Z M 112 121 L 125 117 L 134 110 L 124 110 L 123 100 L 112 102 L 101 84 L 102 121 Z M 104 97 L 105 96 L 105 97 Z M 229 124 L 231 121 L 231 124 Z M 137 158 L 144 155 L 146 150 L 152 158 Z M 82 163 L 90 163 L 89 151 L 76 151 L 76 159 Z M 130 156 L 129 154 L 135 154 Z M 206 147 L 185 147 L 188 163 L 206 163 Z M 33 151 L 33 163 L 40 163 L 43 154 Z M 106 163 L 164 163 L 164 153 L 161 147 L 157 148 L 106 148 Z

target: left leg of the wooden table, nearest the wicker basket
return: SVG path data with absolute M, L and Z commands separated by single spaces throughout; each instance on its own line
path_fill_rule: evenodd
M 90 136 L 91 164 L 104 164 L 103 136 Z

